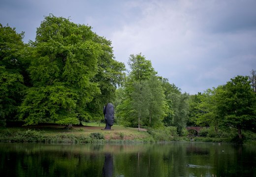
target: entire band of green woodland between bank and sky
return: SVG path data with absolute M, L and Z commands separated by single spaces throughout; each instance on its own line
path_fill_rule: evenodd
M 186 126 L 208 126 L 207 136 L 237 139 L 256 132 L 255 70 L 190 95 L 159 76 L 142 54 L 131 54 L 126 68 L 115 60 L 111 41 L 90 26 L 49 15 L 35 41 L 25 44 L 24 34 L 0 24 L 1 126 L 100 122 L 103 106 L 112 102 L 115 123 L 129 127 L 174 127 L 183 136 Z

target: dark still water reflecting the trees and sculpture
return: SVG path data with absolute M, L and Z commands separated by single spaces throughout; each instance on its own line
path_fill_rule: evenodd
M 0 177 L 256 177 L 256 147 L 0 143 Z

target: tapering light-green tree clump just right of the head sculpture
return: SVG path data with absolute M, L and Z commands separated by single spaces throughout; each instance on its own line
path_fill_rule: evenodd
M 128 65 L 131 70 L 120 95 L 117 118 L 128 126 L 161 126 L 167 103 L 157 72 L 141 54 L 130 55 Z

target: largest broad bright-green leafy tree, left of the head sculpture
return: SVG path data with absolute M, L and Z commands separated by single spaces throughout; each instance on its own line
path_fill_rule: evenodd
M 106 92 L 120 82 L 117 73 L 122 75 L 123 64 L 114 61 L 110 42 L 89 26 L 49 15 L 31 46 L 33 87 L 20 107 L 20 118 L 26 124 L 77 124 L 79 118 L 90 117 L 93 111 L 87 107 L 97 95 L 103 93 L 96 99 L 102 102 Z

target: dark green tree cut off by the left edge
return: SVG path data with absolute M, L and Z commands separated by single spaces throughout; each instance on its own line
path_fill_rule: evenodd
M 0 24 L 0 119 L 13 120 L 21 104 L 26 65 L 24 32 Z M 27 76 L 27 75 L 26 75 Z

